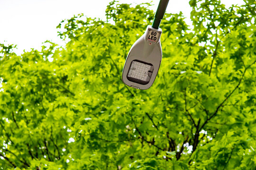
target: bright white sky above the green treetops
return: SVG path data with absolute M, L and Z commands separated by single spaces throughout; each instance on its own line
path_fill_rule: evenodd
M 0 0 L 0 43 L 17 44 L 17 54 L 31 48 L 40 50 L 42 42 L 50 40 L 60 45 L 56 26 L 63 20 L 83 13 L 87 17 L 105 19 L 105 10 L 112 0 Z M 159 0 L 119 0 L 120 3 L 139 4 L 153 1 L 156 11 Z M 221 0 L 228 7 L 244 4 L 243 0 Z M 189 0 L 170 0 L 169 13 L 183 12 L 190 21 Z M 189 23 L 188 23 L 189 24 Z M 4 42 L 5 41 L 5 42 Z

